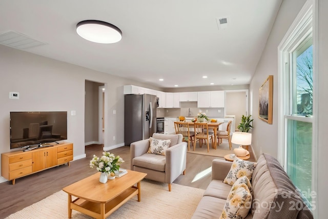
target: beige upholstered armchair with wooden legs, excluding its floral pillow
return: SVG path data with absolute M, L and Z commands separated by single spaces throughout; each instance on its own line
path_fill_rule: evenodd
M 165 155 L 147 153 L 150 140 L 141 140 L 131 143 L 131 170 L 147 173 L 146 178 L 169 184 L 183 173 L 185 175 L 187 162 L 187 143 L 182 142 L 181 134 L 154 133 L 157 140 L 171 140 L 170 146 L 165 150 Z

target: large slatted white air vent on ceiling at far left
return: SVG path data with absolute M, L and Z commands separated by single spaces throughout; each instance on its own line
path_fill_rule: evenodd
M 25 36 L 14 31 L 0 33 L 0 44 L 15 49 L 29 49 L 32 47 L 46 45 L 43 42 L 37 41 L 36 39 L 32 39 L 29 36 Z

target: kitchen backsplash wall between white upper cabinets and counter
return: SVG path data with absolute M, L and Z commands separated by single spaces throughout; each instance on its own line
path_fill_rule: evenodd
M 196 117 L 199 112 L 205 112 L 209 117 L 224 117 L 224 108 L 198 108 L 197 102 L 180 102 L 180 108 L 157 108 L 157 117 Z

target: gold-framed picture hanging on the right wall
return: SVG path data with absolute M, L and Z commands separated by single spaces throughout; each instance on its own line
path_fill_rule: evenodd
M 269 75 L 260 87 L 258 102 L 258 117 L 264 122 L 272 124 L 273 75 Z

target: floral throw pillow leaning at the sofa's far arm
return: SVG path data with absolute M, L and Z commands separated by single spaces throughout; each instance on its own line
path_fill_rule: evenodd
M 242 176 L 247 176 L 248 179 L 251 180 L 256 164 L 257 163 L 244 161 L 236 157 L 223 183 L 232 186 L 238 180 L 238 178 Z

